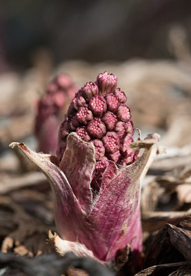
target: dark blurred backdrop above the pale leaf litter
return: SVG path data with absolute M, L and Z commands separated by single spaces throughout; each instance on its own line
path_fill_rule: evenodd
M 54 65 L 174 59 L 174 32 L 190 41 L 190 8 L 188 0 L 1 1 L 2 59 L 17 70 L 33 66 L 42 48 Z

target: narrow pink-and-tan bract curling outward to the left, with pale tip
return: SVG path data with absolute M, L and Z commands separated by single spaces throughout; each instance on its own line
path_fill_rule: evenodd
M 82 210 L 77 197 L 74 195 L 66 175 L 64 175 L 59 167 L 52 164 L 48 159 L 42 157 L 41 154 L 30 150 L 30 148 L 25 144 L 13 142 L 10 144 L 10 147 L 19 147 L 23 154 L 26 155 L 26 157 L 28 157 L 28 159 L 32 161 L 32 163 L 48 178 L 55 198 L 54 211 L 57 226 L 62 235 L 71 240 L 71 237 L 69 237 L 71 228 L 77 224 L 78 217 L 79 219 L 82 217 L 85 219 L 86 213 Z M 70 204 L 66 204 L 66 202 L 70 202 Z M 72 216 L 71 214 L 74 215 Z

